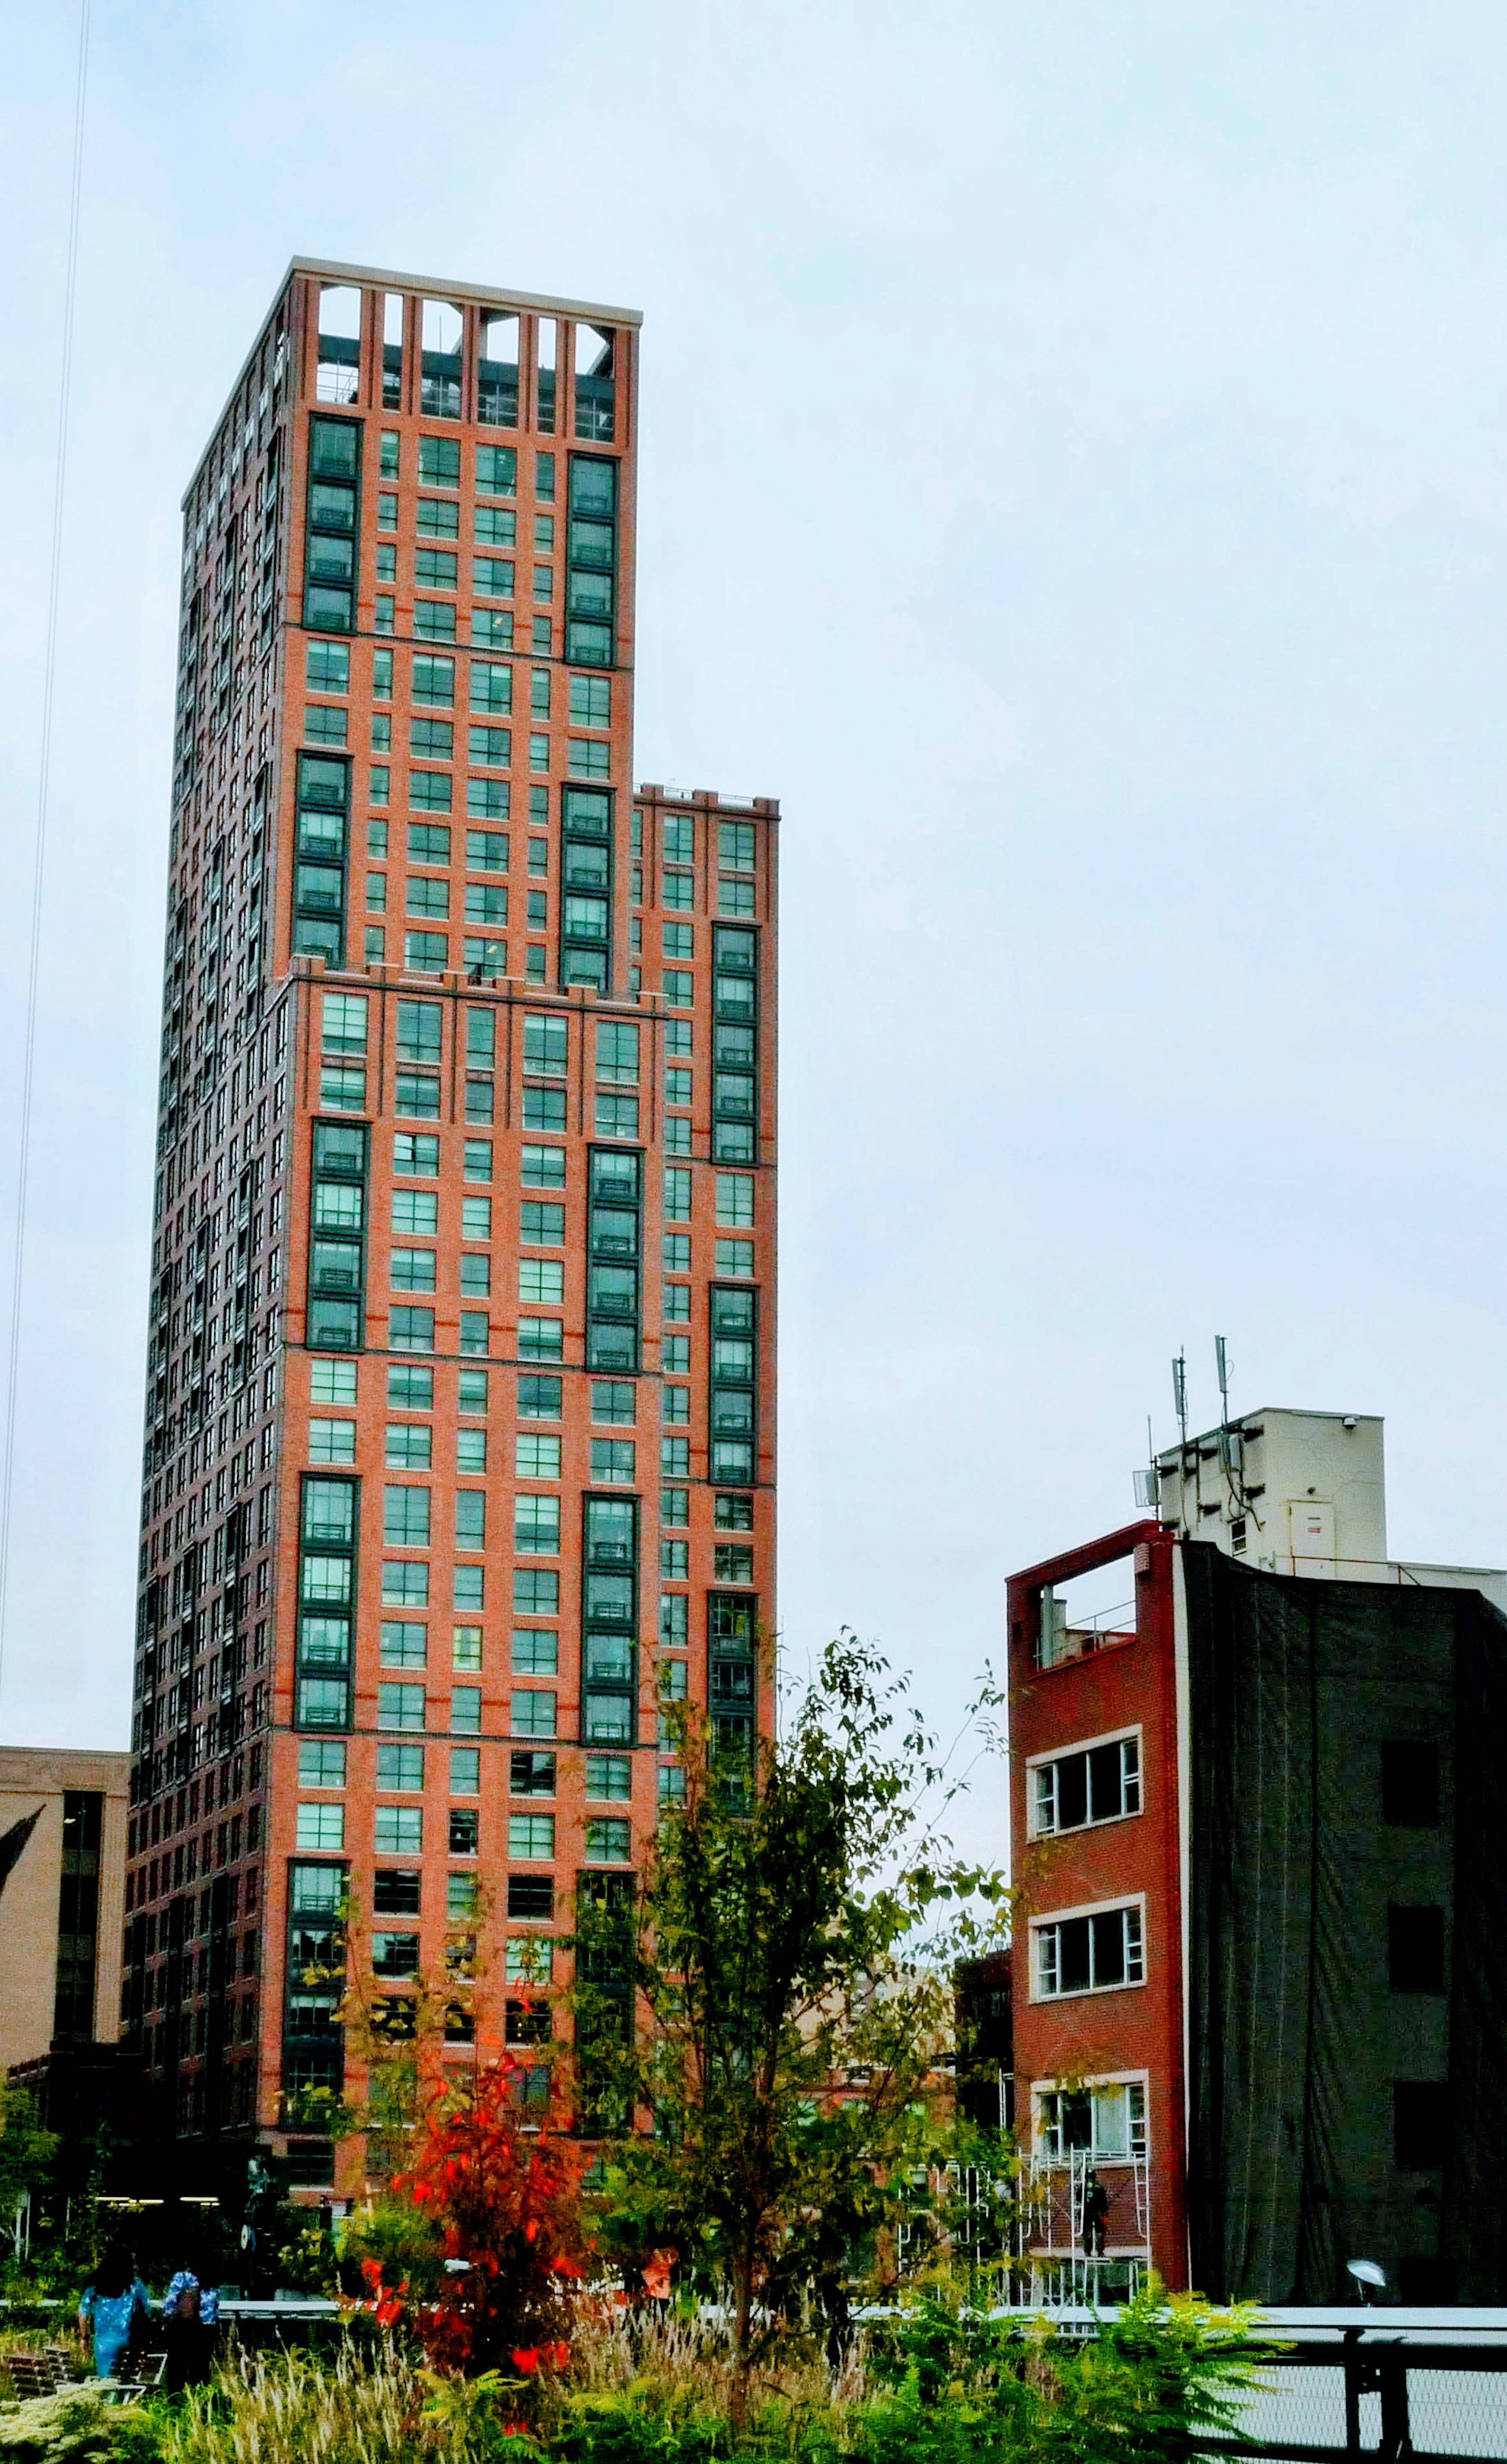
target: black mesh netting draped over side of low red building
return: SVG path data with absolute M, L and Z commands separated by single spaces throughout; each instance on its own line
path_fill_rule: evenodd
M 1181 1550 L 1189 1624 L 1189 2232 L 1218 2299 L 1334 2301 L 1352 2257 L 1507 2299 L 1507 1619 L 1480 1592 Z M 1438 1818 L 1384 1818 L 1384 1752 Z M 1396 1991 L 1396 1910 L 1448 1991 Z M 1411 2099 L 1411 2102 L 1408 2102 Z

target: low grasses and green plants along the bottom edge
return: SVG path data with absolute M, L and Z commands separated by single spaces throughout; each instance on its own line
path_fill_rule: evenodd
M 232 2356 L 210 2388 L 111 2410 L 94 2388 L 0 2412 L 0 2464 L 1186 2464 L 1228 2434 L 1263 2348 L 1248 2311 L 1149 2284 L 1095 2336 L 987 2316 L 952 2292 L 908 2301 L 883 2353 L 834 2380 L 760 2370 L 735 2422 L 735 2351 L 693 2321 L 582 2311 L 572 2375 L 427 2373 L 382 2338 L 333 2361 Z

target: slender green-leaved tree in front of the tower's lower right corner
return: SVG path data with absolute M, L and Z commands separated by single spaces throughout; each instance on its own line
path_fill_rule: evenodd
M 905 2208 L 952 2018 L 935 1924 L 1004 1882 L 925 1828 L 935 1742 L 851 1634 L 779 1740 L 671 1717 L 686 1794 L 636 1895 L 577 1915 L 577 2092 L 617 2131 L 604 2242 L 730 2287 L 742 2422 L 774 2314 L 807 2287 L 841 2314 L 848 2247 Z

